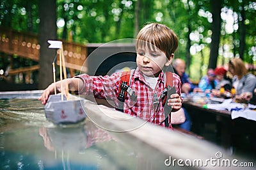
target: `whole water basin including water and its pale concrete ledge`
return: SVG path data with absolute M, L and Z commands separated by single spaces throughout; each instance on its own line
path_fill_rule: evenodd
M 92 102 L 86 102 L 84 121 L 56 125 L 45 118 L 41 93 L 0 93 L 0 169 L 181 169 L 184 162 L 171 160 L 207 160 L 216 153 L 234 158 L 202 139 L 140 119 L 124 121 L 126 114 Z

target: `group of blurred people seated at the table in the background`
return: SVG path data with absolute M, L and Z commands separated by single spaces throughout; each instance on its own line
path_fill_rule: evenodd
M 182 59 L 177 59 L 182 61 Z M 183 61 L 184 62 L 184 61 Z M 185 62 L 184 62 L 185 63 Z M 179 70 L 179 66 L 173 63 L 173 68 Z M 185 68 L 179 75 L 185 75 Z M 183 82 L 182 82 L 183 83 Z M 227 68 L 219 66 L 215 69 L 209 68 L 207 75 L 198 82 L 198 86 L 182 84 L 182 93 L 203 92 L 211 97 L 234 98 L 236 102 L 256 103 L 256 77 L 248 72 L 244 62 L 240 58 L 233 58 L 228 62 Z

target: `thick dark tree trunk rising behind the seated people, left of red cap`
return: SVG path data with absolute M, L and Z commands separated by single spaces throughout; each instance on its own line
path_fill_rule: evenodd
M 220 43 L 220 25 L 221 25 L 221 4 L 223 0 L 211 0 L 212 8 L 212 43 L 208 68 L 216 68 L 218 59 L 218 50 Z

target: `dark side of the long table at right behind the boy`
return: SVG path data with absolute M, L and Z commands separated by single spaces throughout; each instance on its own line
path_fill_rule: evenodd
M 230 111 L 205 109 L 203 105 L 184 100 L 183 107 L 191 116 L 192 132 L 205 137 L 205 125 L 211 123 L 215 126 L 214 143 L 224 148 L 238 148 L 256 153 L 256 121 L 246 118 L 232 120 Z M 212 139 L 209 140 L 212 141 Z

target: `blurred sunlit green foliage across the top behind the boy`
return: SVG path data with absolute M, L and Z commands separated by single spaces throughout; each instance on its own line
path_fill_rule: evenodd
M 205 72 L 201 68 L 205 69 L 208 65 L 212 36 L 210 0 L 57 0 L 56 4 L 58 38 L 83 44 L 105 43 L 134 38 L 136 19 L 139 21 L 138 28 L 147 22 L 159 22 L 169 26 L 179 36 L 175 57 L 189 59 L 191 77 L 198 79 L 201 76 L 198 72 Z M 239 55 L 243 8 L 246 17 L 244 61 L 256 61 L 255 6 L 256 3 L 250 0 L 231 0 L 222 4 L 217 65 L 223 65 Z M 228 25 L 227 16 L 234 19 L 231 25 Z M 0 26 L 38 33 L 38 24 L 38 1 L 1 1 Z M 228 32 L 227 28 L 232 27 L 235 29 Z

